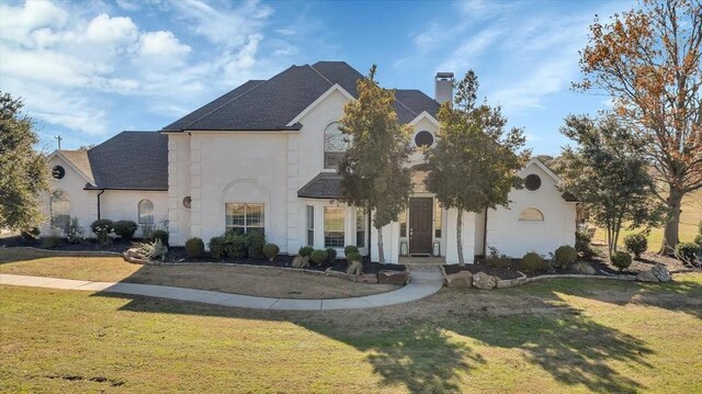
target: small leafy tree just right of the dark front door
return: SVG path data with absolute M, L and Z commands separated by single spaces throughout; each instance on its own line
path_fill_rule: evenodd
M 464 263 L 463 212 L 508 206 L 509 192 L 522 187 L 518 171 L 529 157 L 529 150 L 518 153 L 524 146 L 523 132 L 506 132 L 507 117 L 499 106 L 476 105 L 477 89 L 477 77 L 468 71 L 456 87 L 455 106 L 441 105 L 438 142 L 426 151 L 427 189 L 442 206 L 458 211 L 460 264 Z

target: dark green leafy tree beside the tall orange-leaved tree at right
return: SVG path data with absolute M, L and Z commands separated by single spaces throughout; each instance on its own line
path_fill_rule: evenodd
M 604 227 L 612 257 L 624 223 L 631 228 L 652 226 L 663 215 L 663 207 L 654 200 L 643 143 L 613 115 L 600 120 L 570 115 L 565 122 L 561 132 L 577 146 L 563 150 L 564 187 L 587 204 L 590 218 Z

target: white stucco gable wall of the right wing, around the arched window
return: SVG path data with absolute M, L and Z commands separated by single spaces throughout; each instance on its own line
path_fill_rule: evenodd
M 509 209 L 499 207 L 487 213 L 487 246 L 500 254 L 522 257 L 528 251 L 547 255 L 562 245 L 575 244 L 575 203 L 566 202 L 556 181 L 536 164 L 521 171 L 522 177 L 535 173 L 541 178 L 536 191 L 513 190 Z M 520 213 L 534 207 L 543 213 L 543 222 L 519 221 Z

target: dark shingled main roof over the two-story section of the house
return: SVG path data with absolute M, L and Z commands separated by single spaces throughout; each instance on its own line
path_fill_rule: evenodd
M 299 124 L 287 124 L 337 83 L 358 97 L 356 81 L 361 78 L 344 61 L 292 66 L 269 80 L 250 80 L 162 131 L 299 130 Z M 435 115 L 439 103 L 419 90 L 397 90 L 395 111 L 400 123 L 409 123 L 423 111 Z

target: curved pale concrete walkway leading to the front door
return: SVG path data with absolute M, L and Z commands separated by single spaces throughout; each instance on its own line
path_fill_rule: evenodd
M 441 286 L 443 285 L 443 278 L 441 277 L 441 272 L 439 271 L 438 267 L 411 269 L 410 275 L 411 281 L 409 284 L 392 292 L 353 299 L 336 300 L 269 299 L 206 290 L 161 286 L 154 284 L 92 282 L 72 279 L 26 277 L 4 273 L 0 273 L 0 284 L 145 295 L 161 299 L 200 302 L 204 304 L 220 306 L 275 311 L 359 309 L 366 307 L 395 305 L 429 296 L 438 292 L 439 289 L 441 289 Z

